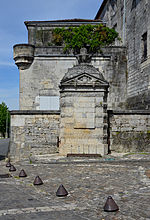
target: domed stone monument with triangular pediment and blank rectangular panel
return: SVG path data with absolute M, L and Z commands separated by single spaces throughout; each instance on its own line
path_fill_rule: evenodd
M 60 88 L 59 153 L 106 154 L 104 136 L 107 124 L 104 124 L 103 112 L 107 109 L 107 81 L 94 66 L 80 64 L 68 70 Z M 68 117 L 68 109 L 72 118 L 70 113 Z

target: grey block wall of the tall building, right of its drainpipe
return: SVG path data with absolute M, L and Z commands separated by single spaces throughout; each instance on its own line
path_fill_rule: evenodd
M 126 4 L 129 108 L 131 99 L 134 100 L 134 97 L 137 95 L 142 94 L 144 102 L 146 102 L 146 96 L 150 89 L 150 1 L 140 0 L 136 2 L 135 6 L 132 5 L 132 1 L 129 0 Z M 147 56 L 145 58 L 143 58 L 144 49 L 142 40 L 144 33 L 147 33 Z M 136 109 L 137 107 L 141 109 L 139 100 L 135 103 L 135 107 L 132 107 L 132 109 Z M 150 103 L 145 105 L 145 109 L 150 109 Z

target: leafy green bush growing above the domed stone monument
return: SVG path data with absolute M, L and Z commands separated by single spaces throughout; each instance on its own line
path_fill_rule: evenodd
M 72 49 L 74 53 L 79 53 L 80 49 L 85 47 L 89 53 L 96 53 L 102 47 L 111 45 L 115 39 L 119 39 L 118 33 L 103 24 L 53 30 L 53 43 L 58 46 L 64 44 L 66 52 Z

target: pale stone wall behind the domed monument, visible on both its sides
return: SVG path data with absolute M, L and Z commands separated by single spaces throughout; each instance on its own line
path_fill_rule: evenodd
M 38 110 L 40 96 L 59 96 L 61 79 L 68 68 L 76 64 L 76 57 L 63 54 L 62 47 L 35 48 L 32 65 L 27 69 L 20 69 L 20 110 Z M 98 68 L 109 82 L 108 108 L 125 108 L 126 49 L 104 48 L 102 54 L 93 57 L 91 64 Z

